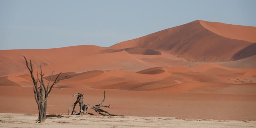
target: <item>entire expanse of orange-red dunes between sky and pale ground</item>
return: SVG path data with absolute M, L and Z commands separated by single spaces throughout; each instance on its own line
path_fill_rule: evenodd
M 155 116 L 150 111 L 164 105 L 157 116 L 256 119 L 255 35 L 256 27 L 196 20 L 110 47 L 81 45 L 1 50 L 0 100 L 6 104 L 0 105 L 0 112 L 36 111 L 35 107 L 22 103 L 22 111 L 19 111 L 14 105 L 15 102 L 34 102 L 29 96 L 33 93 L 33 84 L 22 54 L 32 60 L 35 71 L 42 64 L 45 82 L 49 81 L 53 70 L 52 81 L 59 72 L 61 76 L 68 75 L 55 86 L 62 89 L 53 91 L 58 98 L 72 98 L 71 92 L 81 91 L 95 99 L 92 92 L 98 94 L 105 89 L 113 93 L 109 94 L 114 102 L 110 111 L 117 114 L 124 110 L 128 116 Z M 15 94 L 20 100 L 14 100 Z M 134 95 L 140 100 L 132 101 L 129 97 Z M 205 98 L 199 97 L 201 95 Z M 121 101 L 119 96 L 126 101 Z M 173 105 L 169 105 L 172 102 L 168 96 L 172 97 Z M 70 98 L 62 107 L 60 101 L 51 102 L 49 112 L 65 113 L 68 103 L 74 102 Z M 162 100 L 160 104 L 159 99 L 168 100 L 168 104 Z M 49 100 L 57 99 L 50 97 Z M 142 107 L 143 100 L 148 101 L 145 109 L 134 108 L 136 105 Z M 191 108 L 186 107 L 188 104 Z M 172 110 L 165 113 L 169 110 L 167 106 Z

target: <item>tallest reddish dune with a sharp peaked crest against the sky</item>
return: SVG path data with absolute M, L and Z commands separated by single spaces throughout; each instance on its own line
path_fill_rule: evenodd
M 211 24 L 202 20 L 196 20 L 137 39 L 124 41 L 110 48 L 124 49 L 129 47 L 142 47 L 160 52 L 168 52 L 190 60 L 227 61 L 233 59 L 232 56 L 237 52 L 251 45 L 252 43 L 248 40 L 256 40 L 255 36 L 253 36 L 255 35 L 256 27 L 235 26 L 215 22 L 210 23 Z M 215 24 L 221 26 L 219 28 L 222 29 L 218 29 L 218 31 L 217 29 L 213 29 L 212 26 Z M 241 31 L 237 32 L 237 34 L 229 35 L 228 33 L 234 32 L 228 31 L 229 28 L 234 28 L 234 31 Z M 250 35 L 242 34 L 237 36 L 241 33 L 250 33 Z M 239 37 L 239 39 L 236 37 Z M 249 57 L 250 55 L 246 54 L 243 56 Z

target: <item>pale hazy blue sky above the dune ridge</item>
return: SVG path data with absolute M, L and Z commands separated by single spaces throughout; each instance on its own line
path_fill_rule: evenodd
M 0 50 L 108 47 L 194 20 L 256 26 L 256 0 L 0 0 Z

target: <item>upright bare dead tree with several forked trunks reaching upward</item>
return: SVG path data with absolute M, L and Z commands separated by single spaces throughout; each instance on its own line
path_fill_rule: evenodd
M 35 96 L 36 104 L 38 106 L 38 118 L 36 120 L 36 123 L 37 122 L 43 123 L 46 120 L 47 98 L 48 98 L 50 92 L 52 91 L 53 86 L 56 83 L 58 83 L 61 79 L 65 78 L 67 76 L 59 78 L 59 76 L 61 74 L 61 72 L 60 72 L 60 74 L 54 80 L 53 84 L 50 85 L 51 81 L 52 81 L 52 74 L 53 74 L 53 72 L 52 72 L 52 74 L 49 75 L 49 77 L 50 77 L 49 82 L 47 84 L 44 84 L 44 78 L 43 78 L 44 73 L 42 73 L 42 65 L 40 65 L 40 73 L 39 73 L 40 78 L 38 78 L 38 71 L 37 71 L 37 75 L 35 78 L 33 75 L 33 67 L 32 67 L 31 60 L 30 60 L 30 68 L 29 68 L 28 61 L 27 61 L 26 57 L 25 56 L 23 56 L 23 57 L 26 60 L 26 65 L 30 72 L 30 76 L 31 76 L 33 84 L 34 84 L 34 86 L 33 86 L 33 90 L 34 90 L 34 94 L 35 94 L 34 96 Z

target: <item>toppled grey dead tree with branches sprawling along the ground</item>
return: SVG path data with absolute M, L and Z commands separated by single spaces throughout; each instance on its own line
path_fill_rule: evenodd
M 105 111 L 105 110 L 100 108 L 100 107 L 107 107 L 107 108 L 109 108 L 109 106 L 110 106 L 110 105 L 108 105 L 108 106 L 102 105 L 103 102 L 105 101 L 105 93 L 106 93 L 106 91 L 104 90 L 104 98 L 103 98 L 103 100 L 101 101 L 100 104 L 97 104 L 95 106 L 91 106 L 89 104 L 85 105 L 84 104 L 83 94 L 81 94 L 81 93 L 74 94 L 73 96 L 77 96 L 77 99 L 76 99 L 76 102 L 74 104 L 72 104 L 72 105 L 70 105 L 68 107 L 68 114 L 69 114 L 69 109 L 73 107 L 71 115 L 84 115 L 84 114 L 94 115 L 92 113 L 87 112 L 87 110 L 89 108 L 91 108 L 91 109 L 95 110 L 95 112 L 99 113 L 102 116 L 122 116 L 122 115 L 110 114 L 108 111 Z M 75 110 L 77 103 L 79 103 L 79 106 L 80 106 L 80 110 L 79 111 Z

